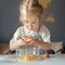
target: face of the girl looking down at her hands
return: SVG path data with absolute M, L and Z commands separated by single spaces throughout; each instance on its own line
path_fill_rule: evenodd
M 29 29 L 34 31 L 38 31 L 39 28 L 39 18 L 37 16 L 30 16 L 27 17 L 26 22 L 24 25 Z

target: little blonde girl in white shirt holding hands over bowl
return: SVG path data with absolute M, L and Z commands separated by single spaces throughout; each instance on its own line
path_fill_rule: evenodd
M 12 51 L 22 46 L 37 46 L 43 50 L 51 48 L 50 31 L 40 24 L 43 8 L 38 0 L 24 0 L 20 5 L 20 21 L 23 26 L 18 27 L 10 40 Z

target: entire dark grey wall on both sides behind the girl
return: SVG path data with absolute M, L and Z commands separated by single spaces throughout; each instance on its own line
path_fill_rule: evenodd
M 0 0 L 0 43 L 9 42 L 20 26 L 20 0 Z M 51 12 L 55 17 L 54 24 L 43 24 L 51 32 L 51 41 L 63 41 L 65 44 L 65 0 L 52 0 Z

